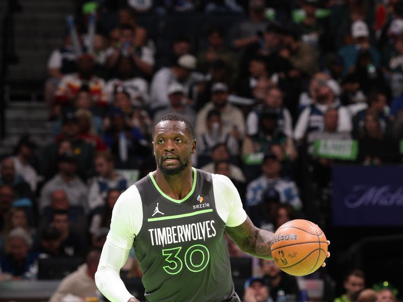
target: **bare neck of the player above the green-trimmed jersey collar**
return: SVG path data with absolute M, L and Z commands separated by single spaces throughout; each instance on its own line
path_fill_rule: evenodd
M 154 178 L 162 192 L 173 199 L 180 200 L 192 189 L 193 169 L 189 165 L 177 175 L 166 175 L 157 168 L 157 171 L 154 173 Z

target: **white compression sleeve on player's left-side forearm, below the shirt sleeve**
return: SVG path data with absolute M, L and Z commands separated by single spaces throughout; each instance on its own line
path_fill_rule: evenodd
M 102 294 L 112 302 L 126 302 L 132 297 L 119 274 L 128 255 L 129 250 L 118 248 L 106 240 L 95 273 L 95 283 Z

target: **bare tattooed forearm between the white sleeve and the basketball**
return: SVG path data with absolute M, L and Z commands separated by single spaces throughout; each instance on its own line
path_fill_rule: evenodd
M 258 258 L 272 259 L 270 245 L 274 234 L 256 228 L 249 217 L 234 228 L 227 226 L 225 232 L 243 252 Z

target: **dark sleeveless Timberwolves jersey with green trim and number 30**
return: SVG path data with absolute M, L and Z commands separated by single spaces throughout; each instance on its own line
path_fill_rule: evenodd
M 135 185 L 143 225 L 133 242 L 147 301 L 240 301 L 234 292 L 225 222 L 217 213 L 212 176 L 193 169 L 182 200 L 164 194 L 152 174 Z

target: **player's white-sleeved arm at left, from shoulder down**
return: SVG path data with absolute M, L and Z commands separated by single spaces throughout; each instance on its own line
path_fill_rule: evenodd
M 122 193 L 112 211 L 110 231 L 102 249 L 95 283 L 110 301 L 138 301 L 120 279 L 133 239 L 139 234 L 143 222 L 141 197 L 136 186 Z

